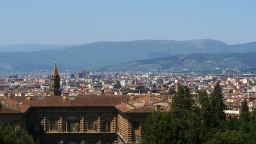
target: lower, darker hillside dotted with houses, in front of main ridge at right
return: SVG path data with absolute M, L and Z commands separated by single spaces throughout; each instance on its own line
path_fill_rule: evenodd
M 214 69 L 245 69 L 256 68 L 256 52 L 176 55 L 159 57 L 109 65 L 98 69 L 100 71 L 138 71 L 138 70 L 214 70 Z M 255 69 L 256 70 L 256 69 Z

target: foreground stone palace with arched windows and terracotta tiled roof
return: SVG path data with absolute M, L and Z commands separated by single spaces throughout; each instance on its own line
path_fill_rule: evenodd
M 95 95 L 2 97 L 0 119 L 26 129 L 39 143 L 139 143 L 149 113 L 167 109 L 158 103 L 135 107 L 125 102 L 129 100 Z

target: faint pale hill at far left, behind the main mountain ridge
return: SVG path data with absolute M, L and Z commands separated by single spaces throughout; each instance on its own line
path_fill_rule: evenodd
M 40 45 L 40 44 L 16 44 L 0 46 L 0 52 L 32 52 L 64 50 L 78 45 Z

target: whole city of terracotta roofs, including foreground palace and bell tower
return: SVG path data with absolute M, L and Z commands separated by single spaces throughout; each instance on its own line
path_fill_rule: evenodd
M 10 74 L 0 79 L 1 118 L 15 123 L 15 128 L 24 127 L 24 122 L 40 143 L 139 143 L 148 114 L 170 111 L 180 86 L 188 87 L 196 99 L 198 90 L 210 93 L 219 82 L 226 117 L 240 117 L 244 100 L 249 111 L 256 106 L 255 74 L 83 69 L 59 73 L 57 63 L 53 65 L 51 74 Z

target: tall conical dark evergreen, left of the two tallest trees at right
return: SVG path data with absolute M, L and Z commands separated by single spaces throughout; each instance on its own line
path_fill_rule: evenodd
M 200 143 L 200 112 L 187 86 L 180 86 L 171 104 L 173 143 Z

